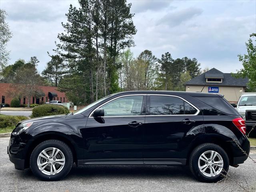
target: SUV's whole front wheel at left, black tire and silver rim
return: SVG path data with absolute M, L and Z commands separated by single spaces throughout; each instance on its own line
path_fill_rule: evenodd
M 72 151 L 60 140 L 46 140 L 38 144 L 30 156 L 30 168 L 42 180 L 64 178 L 72 164 Z

